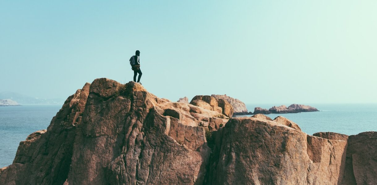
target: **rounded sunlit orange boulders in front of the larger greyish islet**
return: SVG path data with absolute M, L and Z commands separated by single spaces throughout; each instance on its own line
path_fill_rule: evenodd
M 227 117 L 233 116 L 233 107 L 224 99 L 216 99 L 212 96 L 207 95 L 197 95 L 193 97 L 190 104 L 199 106 L 204 109 L 211 111 L 216 111 L 221 114 L 224 114 Z

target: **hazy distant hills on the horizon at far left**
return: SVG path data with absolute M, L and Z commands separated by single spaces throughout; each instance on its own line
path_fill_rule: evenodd
M 63 105 L 64 99 L 41 99 L 35 98 L 31 96 L 26 96 L 24 94 L 19 94 L 17 92 L 0 92 L 0 99 L 10 99 L 13 100 L 21 105 L 25 104 L 34 104 L 34 105 L 41 105 L 41 104 L 48 104 L 48 105 Z

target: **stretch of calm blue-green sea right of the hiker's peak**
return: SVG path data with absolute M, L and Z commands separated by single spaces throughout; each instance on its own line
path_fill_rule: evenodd
M 289 106 L 290 104 L 285 105 Z M 274 105 L 252 104 L 246 106 L 248 111 L 253 112 L 255 107 L 269 109 Z M 377 104 L 310 104 L 310 106 L 320 111 L 267 114 L 267 116 L 272 119 L 278 116 L 286 117 L 297 123 L 303 132 L 310 135 L 316 132 L 337 132 L 356 135 L 360 132 L 377 131 Z M 242 115 L 237 117 L 242 117 Z

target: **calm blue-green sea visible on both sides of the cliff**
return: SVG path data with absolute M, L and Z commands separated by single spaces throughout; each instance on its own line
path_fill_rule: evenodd
M 246 104 L 271 108 L 276 104 Z M 289 105 L 289 104 L 285 104 Z M 303 132 L 337 132 L 356 135 L 377 131 L 377 104 L 309 104 L 320 111 L 291 114 L 268 114 L 272 119 L 283 116 L 297 123 Z M 0 106 L 0 168 L 12 164 L 20 141 L 37 130 L 47 129 L 62 105 Z M 279 106 L 279 105 L 276 105 Z M 237 117 L 252 115 L 237 115 Z

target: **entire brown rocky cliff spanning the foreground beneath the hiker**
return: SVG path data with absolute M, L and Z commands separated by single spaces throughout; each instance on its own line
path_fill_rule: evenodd
M 134 82 L 86 83 L 47 130 L 20 142 L 13 164 L 0 168 L 0 184 L 351 185 L 377 180 L 377 132 L 311 136 L 284 117 L 229 119 L 222 114 L 226 103 L 216 100 L 220 113 L 213 99 L 196 100 L 209 107 L 159 99 Z

